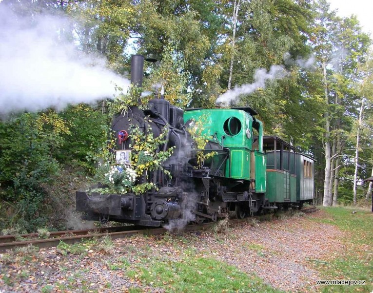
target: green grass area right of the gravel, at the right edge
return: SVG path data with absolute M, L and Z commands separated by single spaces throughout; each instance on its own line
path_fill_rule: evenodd
M 349 236 L 345 237 L 346 250 L 343 255 L 328 262 L 314 260 L 314 265 L 323 274 L 325 280 L 350 279 L 365 280 L 364 286 L 335 285 L 322 287 L 322 292 L 369 292 L 373 290 L 373 214 L 367 210 L 321 208 L 330 219 L 314 221 L 334 225 Z M 330 248 L 333 251 L 333 247 Z

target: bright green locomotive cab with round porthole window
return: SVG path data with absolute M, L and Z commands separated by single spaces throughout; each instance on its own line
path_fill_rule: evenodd
M 263 153 L 263 125 L 250 107 L 190 109 L 185 121 L 202 121 L 202 134 L 228 151 L 224 177 L 252 182 L 254 192 L 266 190 L 266 155 Z M 254 137 L 253 127 L 258 136 Z

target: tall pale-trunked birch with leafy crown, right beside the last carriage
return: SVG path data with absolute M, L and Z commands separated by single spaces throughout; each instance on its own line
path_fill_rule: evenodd
M 355 17 L 336 17 L 324 0 L 318 1 L 315 8 L 318 17 L 311 41 L 322 72 L 324 114 L 320 139 L 325 158 L 323 205 L 331 206 L 337 201 L 342 134 L 352 127 L 346 117 L 356 115 L 352 106 L 356 105 L 354 101 L 358 98 L 353 91 L 353 84 L 359 79 L 356 68 L 370 40 L 361 32 Z

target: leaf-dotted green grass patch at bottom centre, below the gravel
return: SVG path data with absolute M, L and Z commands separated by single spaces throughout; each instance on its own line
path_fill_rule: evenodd
M 130 275 L 166 292 L 280 292 L 213 258 L 192 256 L 178 262 L 151 259 Z

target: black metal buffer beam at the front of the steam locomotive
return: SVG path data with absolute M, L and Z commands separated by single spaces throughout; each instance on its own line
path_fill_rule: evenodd
M 120 216 L 122 209 L 132 210 L 134 206 L 133 196 L 120 194 L 88 195 L 84 191 L 77 191 L 76 198 L 77 210 L 84 212 Z

